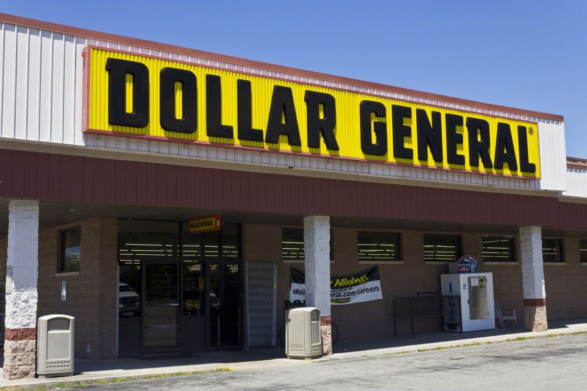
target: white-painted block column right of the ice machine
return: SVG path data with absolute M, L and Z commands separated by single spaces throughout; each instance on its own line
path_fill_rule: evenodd
M 519 242 L 524 285 L 524 324 L 527 331 L 545 331 L 548 329 L 548 322 L 541 227 L 520 227 Z

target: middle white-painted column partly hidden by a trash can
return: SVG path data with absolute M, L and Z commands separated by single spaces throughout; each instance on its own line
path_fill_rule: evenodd
M 330 329 L 330 217 L 303 218 L 306 305 L 320 310 L 324 355 L 332 354 Z

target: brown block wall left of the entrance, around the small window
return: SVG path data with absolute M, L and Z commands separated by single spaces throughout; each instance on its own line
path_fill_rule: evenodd
M 96 217 L 75 225 L 82 227 L 82 260 L 74 276 L 56 273 L 60 227 L 39 232 L 38 316 L 76 318 L 76 357 L 116 358 L 116 219 Z M 61 301 L 62 281 L 67 284 L 66 301 Z

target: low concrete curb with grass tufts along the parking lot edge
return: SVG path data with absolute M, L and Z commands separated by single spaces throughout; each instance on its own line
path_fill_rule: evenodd
M 532 333 L 532 332 L 528 332 L 528 334 L 529 333 Z M 411 350 L 404 350 L 404 351 L 397 351 L 397 352 L 396 351 L 388 351 L 388 352 L 373 352 L 372 354 L 365 354 L 365 351 L 357 351 L 356 354 L 354 354 L 354 355 L 353 355 L 353 352 L 345 352 L 345 355 L 342 357 L 340 356 L 341 353 L 335 353 L 334 355 L 323 356 L 322 358 L 318 358 L 318 359 L 314 359 L 314 360 L 292 360 L 291 363 L 294 363 L 294 364 L 315 363 L 315 362 L 325 362 L 325 361 L 332 361 L 332 360 L 339 360 L 339 359 L 388 356 L 388 355 L 393 355 L 393 354 L 428 352 L 428 351 L 436 351 L 436 350 L 451 349 L 451 348 L 463 348 L 463 347 L 467 347 L 467 346 L 490 345 L 490 344 L 497 344 L 497 343 L 502 343 L 502 342 L 526 341 L 528 339 L 554 338 L 554 337 L 558 337 L 558 336 L 584 335 L 584 334 L 587 334 L 587 330 L 569 331 L 569 332 L 541 331 L 541 332 L 534 332 L 533 335 L 517 335 L 515 337 L 511 336 L 508 338 L 480 337 L 480 339 L 484 339 L 484 340 L 483 341 L 465 342 L 464 344 L 456 344 L 456 345 L 443 345 L 443 342 L 437 342 L 437 343 L 431 342 L 430 344 L 422 344 L 422 345 L 433 345 L 429 348 L 427 347 L 427 348 L 411 349 Z M 487 339 L 487 338 L 490 338 L 490 339 Z M 467 341 L 467 340 L 468 339 L 465 339 L 464 341 Z M 455 342 L 455 341 L 451 341 L 451 342 Z M 380 349 L 372 349 L 372 350 L 380 350 Z M 185 370 L 185 371 L 178 371 L 178 372 L 158 372 L 158 373 L 149 373 L 149 374 L 141 374 L 141 375 L 121 375 L 121 376 L 104 376 L 104 377 L 96 376 L 94 378 L 72 379 L 72 380 L 68 380 L 66 378 L 58 378 L 53 381 L 48 380 L 46 382 L 23 383 L 20 385 L 4 386 L 4 387 L 0 387 L 0 391 L 55 390 L 55 389 L 75 388 L 75 387 L 83 387 L 83 386 L 90 386 L 90 385 L 130 382 L 130 381 L 137 381 L 137 380 L 171 378 L 173 376 L 198 375 L 198 374 L 202 374 L 202 373 L 211 373 L 211 372 L 227 372 L 227 371 L 242 370 L 242 369 L 244 369 L 244 368 L 238 368 L 238 366 L 235 368 L 230 368 L 227 366 L 219 366 L 217 368 L 207 368 L 207 369 L 200 369 L 200 370 Z

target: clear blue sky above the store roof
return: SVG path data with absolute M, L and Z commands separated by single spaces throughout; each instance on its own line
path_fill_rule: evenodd
M 587 2 L 12 1 L 0 12 L 562 114 L 587 158 Z

